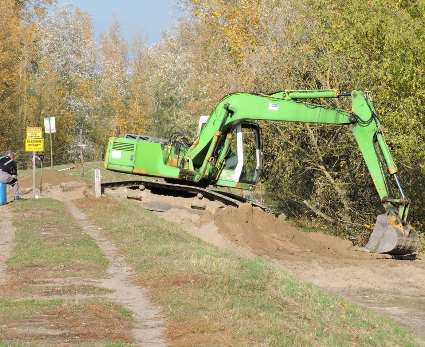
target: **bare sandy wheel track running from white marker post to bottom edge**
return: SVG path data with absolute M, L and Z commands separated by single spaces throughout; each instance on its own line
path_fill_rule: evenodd
M 165 321 L 161 318 L 160 311 L 148 301 L 142 288 L 131 283 L 132 268 L 118 254 L 119 249 L 99 233 L 99 228 L 91 224 L 87 215 L 77 206 L 71 201 L 66 201 L 65 204 L 79 226 L 103 250 L 110 263 L 106 271 L 107 277 L 96 282 L 99 286 L 113 291 L 111 294 L 103 295 L 104 297 L 122 304 L 134 313 L 136 323 L 133 335 L 137 341 L 135 346 L 167 346 L 164 339 Z

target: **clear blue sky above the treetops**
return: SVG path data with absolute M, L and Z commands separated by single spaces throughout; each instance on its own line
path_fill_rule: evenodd
M 160 40 L 162 29 L 170 28 L 177 20 L 176 0 L 59 0 L 59 4 L 72 3 L 75 7 L 91 14 L 96 34 L 106 32 L 112 20 L 112 13 L 127 38 L 137 28 L 148 34 L 148 45 Z

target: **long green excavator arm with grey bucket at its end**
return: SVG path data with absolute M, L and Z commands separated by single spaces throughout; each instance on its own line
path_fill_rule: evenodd
M 348 96 L 352 99 L 351 112 L 301 101 Z M 389 254 L 410 254 L 416 250 L 419 237 L 407 221 L 410 201 L 397 177 L 397 167 L 384 139 L 384 128 L 366 95 L 356 90 L 351 93 L 326 90 L 230 94 L 214 109 L 185 154 L 186 162 L 200 163 L 194 168 L 195 180 L 216 180 L 220 176 L 224 169 L 223 158 L 233 140 L 231 130 L 242 122 L 253 120 L 349 125 L 386 211 L 378 216 L 369 243 L 361 250 Z M 222 150 L 219 155 L 218 147 Z M 399 197 L 393 196 L 390 178 L 396 182 Z

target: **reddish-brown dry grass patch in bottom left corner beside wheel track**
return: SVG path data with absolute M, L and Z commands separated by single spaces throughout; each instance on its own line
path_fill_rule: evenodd
M 116 303 L 93 299 L 2 302 L 0 341 L 42 340 L 44 346 L 82 342 L 132 343 L 131 314 Z

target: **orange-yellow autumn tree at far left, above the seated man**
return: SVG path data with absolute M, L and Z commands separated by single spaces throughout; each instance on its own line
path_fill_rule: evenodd
M 30 106 L 34 16 L 43 15 L 50 0 L 0 0 L 0 147 L 23 152 L 25 125 Z M 19 163 L 20 164 L 20 163 Z

